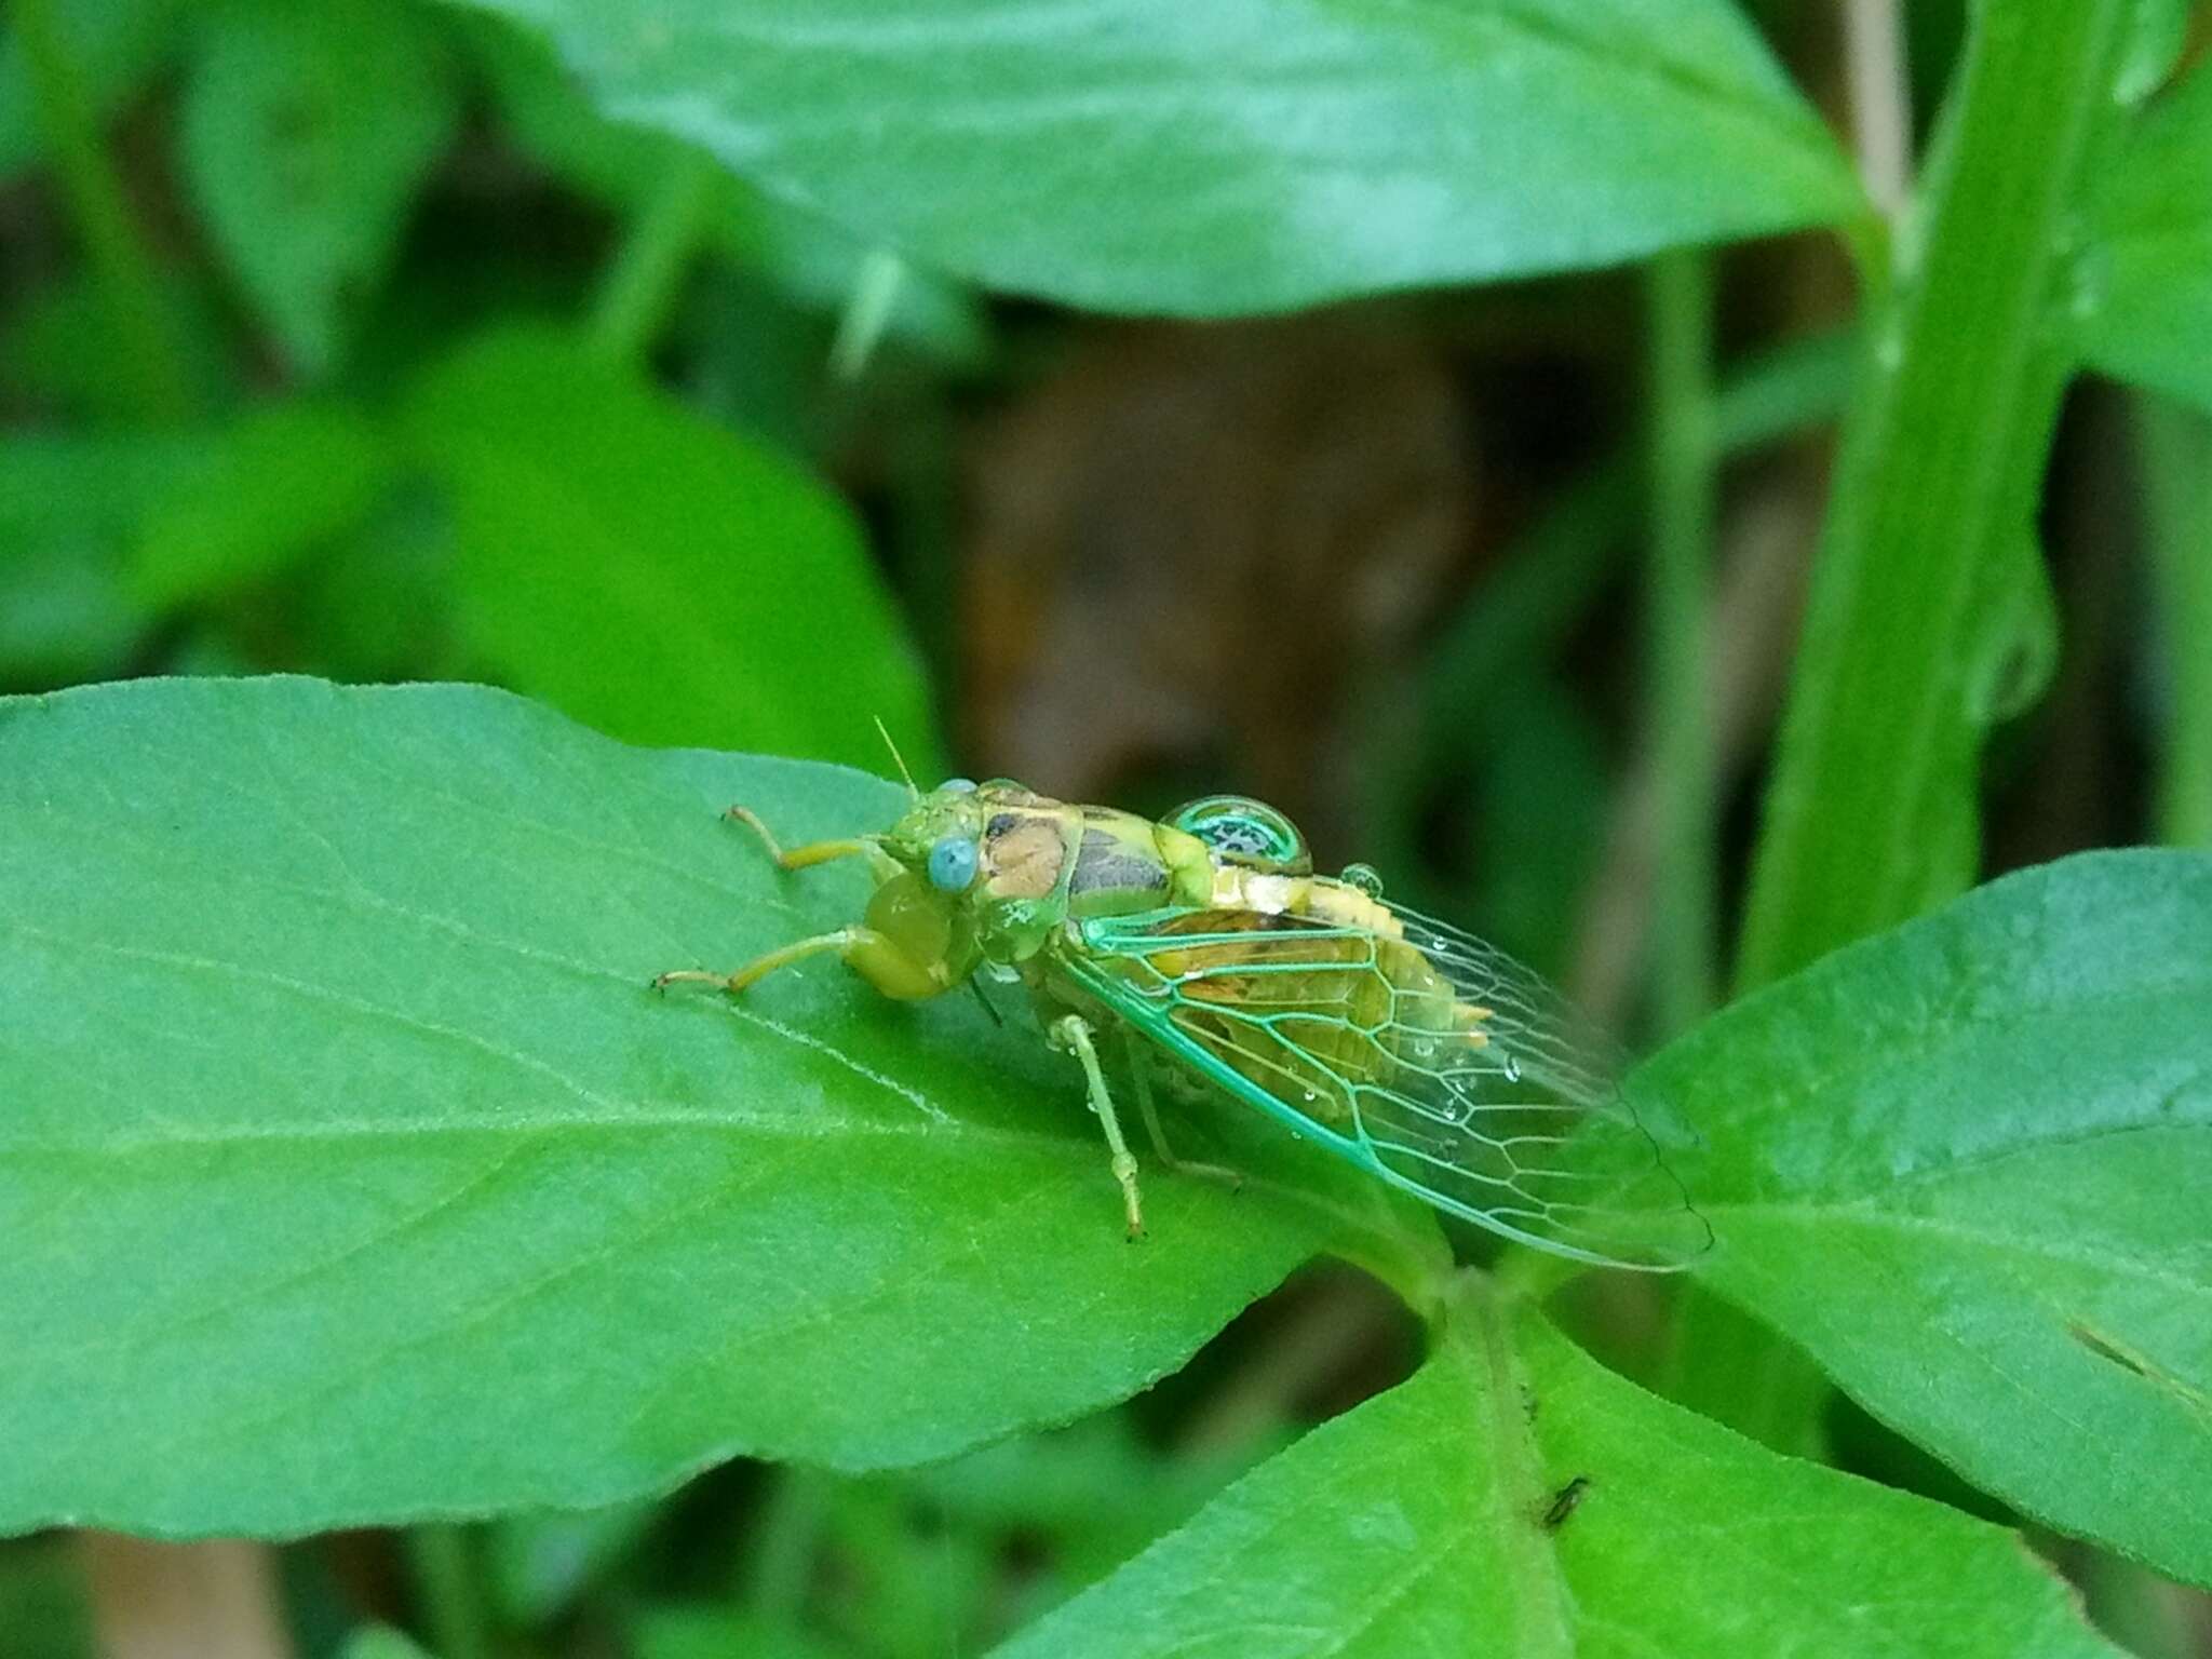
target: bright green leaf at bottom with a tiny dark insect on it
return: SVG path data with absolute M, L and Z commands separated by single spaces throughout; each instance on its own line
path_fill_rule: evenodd
M 998 1652 L 2112 1655 L 2002 1528 L 1778 1458 L 1480 1294 L 1409 1383 Z

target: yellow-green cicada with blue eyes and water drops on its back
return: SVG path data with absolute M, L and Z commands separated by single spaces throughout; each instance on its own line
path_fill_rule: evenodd
M 1710 1243 L 1573 1009 L 1482 940 L 1389 902 L 1371 869 L 1314 874 L 1274 807 L 1219 794 L 1155 821 L 1006 779 L 909 790 L 889 830 L 787 852 L 730 807 L 783 869 L 865 858 L 874 896 L 856 925 L 655 984 L 734 995 L 812 956 L 843 958 L 889 998 L 1020 980 L 1082 1066 L 1130 1237 L 1144 1230 L 1137 1159 L 1099 1053 L 1115 1031 L 1170 1170 L 1192 1166 L 1168 1150 L 1155 1068 L 1540 1250 L 1677 1267 Z

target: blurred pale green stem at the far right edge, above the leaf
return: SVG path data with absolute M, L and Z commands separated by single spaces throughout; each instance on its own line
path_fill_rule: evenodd
M 2137 434 L 2152 628 L 2168 675 L 2157 834 L 2172 847 L 2212 847 L 2212 422 L 2146 398 Z

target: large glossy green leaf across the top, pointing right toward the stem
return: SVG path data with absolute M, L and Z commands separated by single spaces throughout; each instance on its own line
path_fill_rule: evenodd
M 995 288 L 1232 314 L 1860 210 L 1723 0 L 473 0 L 602 108 Z

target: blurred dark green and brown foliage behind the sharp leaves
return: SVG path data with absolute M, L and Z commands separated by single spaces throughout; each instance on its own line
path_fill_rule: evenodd
M 1845 131 L 1832 9 L 1752 11 Z M 1953 0 L 1900 15 L 1911 148 L 1964 24 Z M 929 210 L 887 201 L 883 221 Z M 1858 283 L 1847 246 L 1812 234 L 1732 246 L 1703 281 L 1725 936 Z M 1279 310 L 1263 288 L 1214 310 Z M 1650 967 L 1650 325 L 1621 270 L 1113 321 L 973 288 L 613 122 L 500 18 L 13 0 L 0 690 L 484 679 L 637 743 L 883 772 L 880 719 L 925 781 L 1013 774 L 1144 810 L 1250 790 L 1325 860 L 1380 865 L 1648 1044 L 1686 1018 Z M 2139 334 L 2115 332 L 2112 367 L 2201 403 L 2201 363 Z M 2042 513 L 2064 648 L 1989 752 L 1989 872 L 2212 841 L 2212 779 L 2188 774 L 2212 743 L 2163 737 L 2212 710 L 2212 653 L 2161 626 L 2212 615 L 2208 456 L 2179 403 L 2068 394 Z M 1586 1325 L 1632 1349 L 1635 1318 Z M 1416 1349 L 1378 1290 L 1316 1267 L 1130 1407 L 951 1467 L 739 1464 L 657 1504 L 341 1535 L 241 1571 L 274 1573 L 272 1639 L 310 1655 L 407 1650 L 356 1637 L 365 1619 L 447 1659 L 973 1652 Z M 1805 1391 L 1772 1438 L 1989 1509 Z M 95 1586 L 102 1617 L 139 1597 L 159 1619 L 146 1548 L 0 1546 L 0 1652 L 88 1652 Z M 2143 1652 L 2212 1652 L 2192 1646 L 2212 1641 L 2201 1606 L 2064 1555 Z

